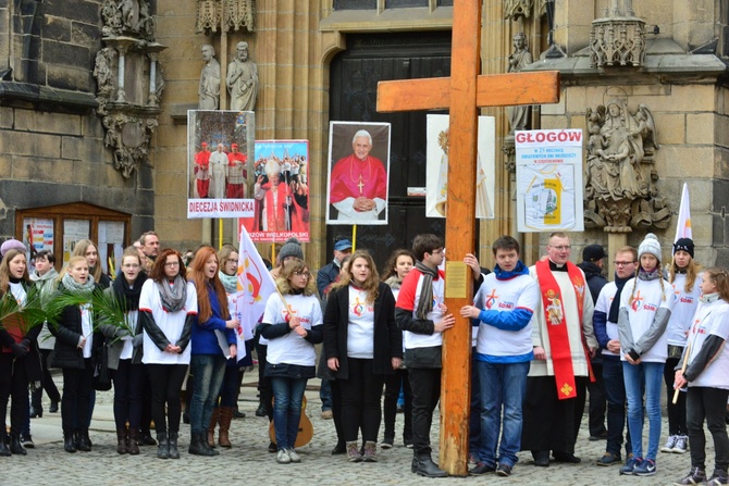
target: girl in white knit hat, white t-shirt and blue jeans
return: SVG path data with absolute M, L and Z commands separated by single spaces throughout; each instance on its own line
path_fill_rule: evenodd
M 660 440 L 660 382 L 668 350 L 666 325 L 674 307 L 674 295 L 670 284 L 660 274 L 660 244 L 653 233 L 648 233 L 638 248 L 638 260 L 637 275 L 626 283 L 620 295 L 618 314 L 628 427 L 634 454 L 620 468 L 620 474 L 650 476 L 656 473 Z M 648 419 L 645 458 L 643 390 Z

